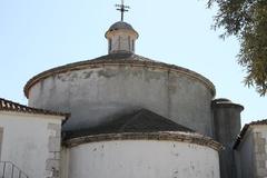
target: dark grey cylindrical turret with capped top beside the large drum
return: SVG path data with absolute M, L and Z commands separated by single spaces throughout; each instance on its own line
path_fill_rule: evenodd
M 214 111 L 215 139 L 225 147 L 220 151 L 220 178 L 236 178 L 233 146 L 240 132 L 240 112 L 244 107 L 228 99 L 216 99 L 211 103 Z

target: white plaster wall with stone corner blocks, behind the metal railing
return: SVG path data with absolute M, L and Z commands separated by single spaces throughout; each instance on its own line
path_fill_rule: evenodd
M 58 116 L 0 111 L 0 127 L 3 128 L 1 161 L 13 162 L 29 178 L 57 177 L 61 119 Z

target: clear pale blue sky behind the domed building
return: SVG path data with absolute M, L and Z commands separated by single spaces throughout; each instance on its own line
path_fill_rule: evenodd
M 120 19 L 120 0 L 0 0 L 0 97 L 27 103 L 24 83 L 52 67 L 107 53 L 105 32 Z M 245 106 L 243 123 L 267 118 L 267 97 L 244 87 L 239 43 L 210 30 L 205 0 L 126 0 L 126 21 L 139 32 L 137 53 L 197 71 L 216 98 Z

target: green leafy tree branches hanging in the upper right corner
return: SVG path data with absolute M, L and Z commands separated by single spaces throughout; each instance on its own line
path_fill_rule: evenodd
M 240 41 L 238 63 L 247 76 L 245 86 L 267 93 L 267 0 L 208 0 L 218 6 L 214 29 L 224 28 L 220 37 L 236 36 Z

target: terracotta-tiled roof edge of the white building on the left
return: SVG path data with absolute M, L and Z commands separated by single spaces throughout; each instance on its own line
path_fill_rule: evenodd
M 56 112 L 44 109 L 31 108 L 28 106 L 23 106 L 7 99 L 0 98 L 0 110 L 3 111 L 16 111 L 16 112 L 26 112 L 26 113 L 40 113 L 40 115 L 51 115 L 51 116 L 65 116 L 69 117 L 69 113 Z

